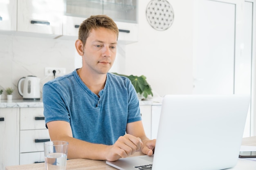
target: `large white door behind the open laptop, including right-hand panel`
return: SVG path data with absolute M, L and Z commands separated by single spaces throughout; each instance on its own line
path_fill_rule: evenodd
M 193 94 L 251 94 L 252 9 L 242 0 L 196 1 Z M 249 109 L 244 137 L 250 117 Z

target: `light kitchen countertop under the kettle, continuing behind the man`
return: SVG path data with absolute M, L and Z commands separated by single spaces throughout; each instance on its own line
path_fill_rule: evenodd
M 139 101 L 139 105 L 161 105 L 161 103 L 153 102 L 150 100 Z M 0 108 L 33 108 L 33 107 L 43 107 L 42 99 L 37 101 L 29 101 L 23 99 L 13 99 L 13 100 L 0 100 Z

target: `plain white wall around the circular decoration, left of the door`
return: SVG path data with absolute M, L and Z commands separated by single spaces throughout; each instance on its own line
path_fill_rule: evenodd
M 146 19 L 150 0 L 139 0 L 139 42 L 126 46 L 126 74 L 145 75 L 153 91 L 191 94 L 193 89 L 193 0 L 168 0 L 172 26 L 153 29 Z

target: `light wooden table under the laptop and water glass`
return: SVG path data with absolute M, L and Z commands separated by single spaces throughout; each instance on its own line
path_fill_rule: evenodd
M 243 138 L 242 145 L 256 146 L 256 136 Z M 136 152 L 134 156 L 142 155 Z M 90 159 L 67 160 L 67 170 L 117 170 L 106 164 L 106 161 L 95 161 Z M 34 163 L 19 166 L 7 166 L 6 170 L 45 170 L 45 163 Z

